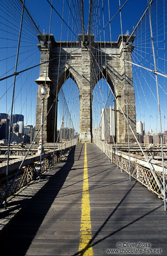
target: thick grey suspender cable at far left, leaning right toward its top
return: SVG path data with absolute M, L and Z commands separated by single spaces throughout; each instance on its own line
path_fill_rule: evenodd
M 19 55 L 19 48 L 20 48 L 21 31 L 22 31 L 22 25 L 23 25 L 24 3 L 25 3 L 25 0 L 23 0 L 23 6 L 22 6 L 22 14 L 21 14 L 21 21 L 20 21 L 20 32 L 19 32 L 19 39 L 18 39 L 17 55 L 16 55 L 14 73 L 17 72 L 17 63 L 18 63 L 18 55 Z M 16 74 L 14 75 L 14 85 L 13 85 L 12 104 L 11 104 L 11 116 L 10 116 L 10 124 L 9 124 L 8 157 L 7 157 L 7 167 L 6 167 L 6 188 L 5 188 L 5 205 L 4 205 L 5 209 L 6 209 L 6 199 L 7 199 L 7 191 L 8 191 L 8 169 L 9 169 L 10 139 L 11 139 L 11 128 L 12 128 L 12 114 L 13 114 L 13 106 L 14 106 L 15 80 L 16 80 Z

